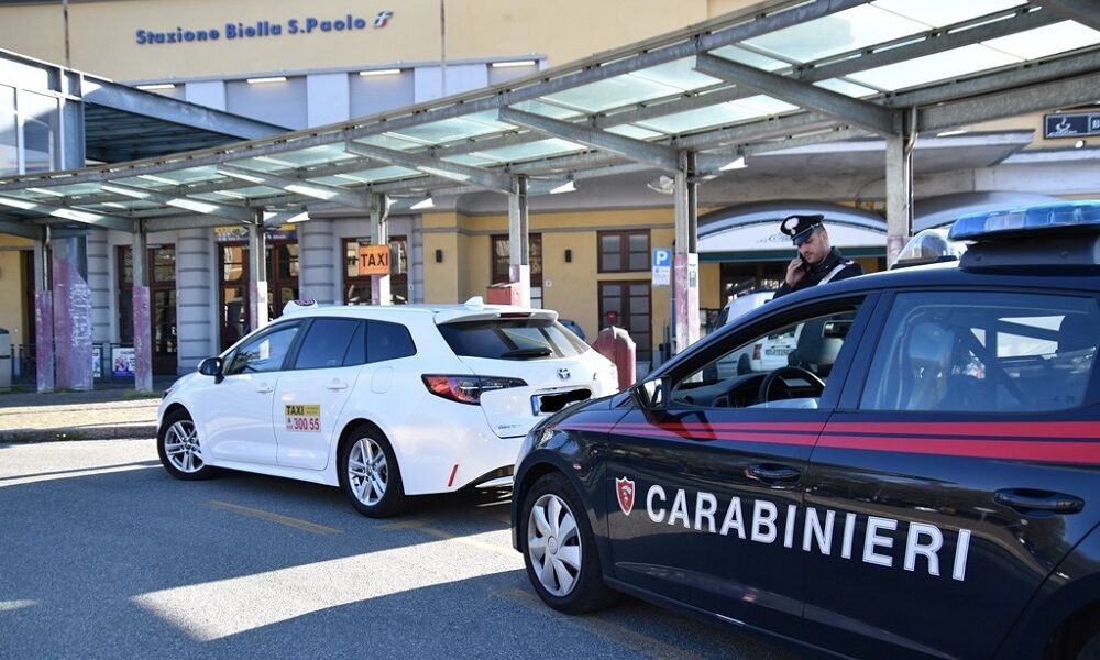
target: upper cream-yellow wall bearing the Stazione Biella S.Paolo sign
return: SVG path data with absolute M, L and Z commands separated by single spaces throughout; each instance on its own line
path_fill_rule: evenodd
M 556 66 L 698 23 L 745 0 L 113 0 L 69 3 L 69 66 L 117 80 L 200 78 L 544 54 Z M 385 28 L 373 23 L 392 11 Z M 712 13 L 712 12 L 718 13 Z M 0 47 L 47 62 L 65 63 L 61 3 L 4 7 Z M 362 29 L 336 30 L 337 21 L 365 21 Z M 307 21 L 317 24 L 306 32 Z M 249 28 L 264 36 L 230 38 Z M 298 31 L 290 34 L 290 21 Z M 323 22 L 329 21 L 329 30 Z M 274 25 L 280 34 L 271 34 Z M 146 33 L 207 32 L 217 40 L 139 44 Z M 441 38 L 442 36 L 442 38 Z

